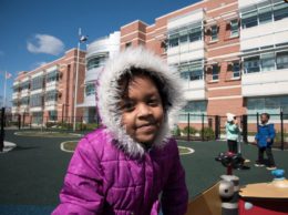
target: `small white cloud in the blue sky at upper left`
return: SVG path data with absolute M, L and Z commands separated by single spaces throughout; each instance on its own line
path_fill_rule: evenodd
M 28 51 L 58 55 L 64 50 L 64 43 L 53 35 L 35 34 L 33 41 L 27 42 Z

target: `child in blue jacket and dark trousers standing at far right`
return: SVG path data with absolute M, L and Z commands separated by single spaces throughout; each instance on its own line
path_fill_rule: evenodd
M 255 142 L 258 145 L 258 161 L 256 161 L 255 166 L 264 166 L 264 152 L 266 152 L 268 157 L 267 170 L 275 170 L 275 161 L 272 156 L 271 145 L 275 139 L 275 129 L 272 123 L 268 123 L 270 115 L 268 113 L 263 113 L 260 115 L 261 124 L 258 125 L 258 132 L 255 136 Z

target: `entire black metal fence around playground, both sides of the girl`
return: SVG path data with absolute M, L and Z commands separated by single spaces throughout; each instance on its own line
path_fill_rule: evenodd
M 241 141 L 253 143 L 257 133 L 260 113 L 237 115 L 241 127 Z M 225 123 L 227 119 L 223 115 L 206 115 L 206 114 L 179 114 L 177 125 L 175 125 L 173 135 L 176 139 L 187 141 L 209 141 L 225 140 L 226 131 Z M 51 117 L 39 117 L 31 115 L 11 115 L 6 114 L 1 121 L 7 127 L 21 129 L 41 129 L 41 130 L 58 130 L 63 132 L 74 131 L 92 131 L 99 127 L 99 117 L 73 116 L 51 120 Z M 275 147 L 288 149 L 288 113 L 270 114 L 270 123 L 275 124 L 276 139 Z

